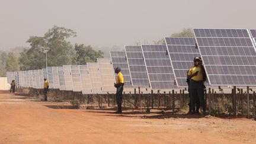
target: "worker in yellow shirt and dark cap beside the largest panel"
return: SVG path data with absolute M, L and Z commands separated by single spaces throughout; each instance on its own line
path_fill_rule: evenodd
M 204 101 L 204 69 L 200 65 L 200 57 L 194 57 L 194 66 L 191 66 L 188 69 L 187 79 L 189 81 L 189 91 L 190 91 L 190 107 L 191 114 L 199 113 L 199 111 L 195 111 L 195 101 L 196 98 L 199 98 L 200 105 L 203 108 L 203 113 L 206 112 L 206 104 Z

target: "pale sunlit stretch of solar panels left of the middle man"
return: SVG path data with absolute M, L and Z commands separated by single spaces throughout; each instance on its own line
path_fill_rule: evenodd
M 114 92 L 114 75 L 109 58 L 97 59 L 87 65 L 49 66 L 46 69 L 7 72 L 7 81 L 21 87 L 42 89 L 47 78 L 49 88 L 66 91 L 82 91 L 83 94 Z

